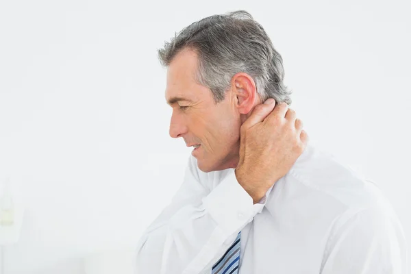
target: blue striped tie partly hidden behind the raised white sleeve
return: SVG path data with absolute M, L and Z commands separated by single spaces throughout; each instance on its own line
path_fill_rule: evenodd
M 223 257 L 212 266 L 211 274 L 238 274 L 238 263 L 240 261 L 240 238 L 241 232 L 238 232 L 236 240 Z

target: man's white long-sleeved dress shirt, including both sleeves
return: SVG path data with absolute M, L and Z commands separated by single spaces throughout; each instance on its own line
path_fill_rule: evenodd
M 308 145 L 256 204 L 234 169 L 203 173 L 190 156 L 138 243 L 138 274 L 210 274 L 240 230 L 240 274 L 407 271 L 403 230 L 382 192 Z

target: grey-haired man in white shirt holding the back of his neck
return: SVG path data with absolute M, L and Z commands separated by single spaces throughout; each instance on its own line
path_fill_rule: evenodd
M 139 242 L 139 274 L 406 273 L 393 209 L 308 145 L 282 58 L 250 14 L 192 23 L 159 58 L 170 135 L 195 149 Z

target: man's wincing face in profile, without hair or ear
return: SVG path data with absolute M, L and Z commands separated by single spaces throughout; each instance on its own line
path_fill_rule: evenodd
M 197 84 L 197 54 L 177 53 L 167 70 L 166 101 L 173 108 L 170 136 L 184 138 L 203 172 L 235 168 L 238 164 L 241 119 L 235 96 L 227 91 L 215 103 L 209 88 Z M 194 149 L 194 148 L 193 148 Z

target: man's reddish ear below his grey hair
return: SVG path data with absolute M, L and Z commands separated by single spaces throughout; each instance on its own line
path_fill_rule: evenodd
M 257 88 L 247 73 L 237 73 L 231 80 L 232 95 L 240 114 L 248 114 L 256 101 Z

